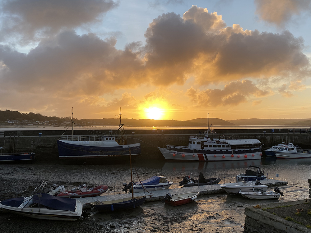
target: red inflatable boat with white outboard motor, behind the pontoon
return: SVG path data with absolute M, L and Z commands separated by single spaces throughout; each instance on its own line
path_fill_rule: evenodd
M 55 186 L 53 185 L 53 187 Z M 60 185 L 55 190 L 51 190 L 49 194 L 57 197 L 69 197 L 69 198 L 97 197 L 100 196 L 102 193 L 106 192 L 108 189 L 109 188 L 106 185 L 100 185 L 89 189 L 86 187 L 86 184 L 83 184 L 79 185 L 79 187 L 76 189 L 67 191 L 65 190 L 63 185 Z

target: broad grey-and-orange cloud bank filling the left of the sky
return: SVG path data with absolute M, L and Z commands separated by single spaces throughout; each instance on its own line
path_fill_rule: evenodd
M 43 40 L 28 54 L 0 45 L 2 88 L 20 92 L 41 90 L 67 96 L 101 95 L 136 87 L 147 80 L 139 75 L 142 61 L 132 52 L 137 44 L 117 50 L 116 40 L 102 40 L 94 34 L 79 36 L 64 31 Z M 142 79 L 142 80 L 140 80 Z

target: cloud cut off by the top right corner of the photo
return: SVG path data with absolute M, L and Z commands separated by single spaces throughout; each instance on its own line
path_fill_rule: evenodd
M 293 16 L 311 13 L 310 0 L 255 0 L 256 13 L 261 20 L 284 26 Z

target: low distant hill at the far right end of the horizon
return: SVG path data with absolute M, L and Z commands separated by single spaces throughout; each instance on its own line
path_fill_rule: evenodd
M 229 120 L 238 126 L 309 126 L 311 119 L 239 119 Z

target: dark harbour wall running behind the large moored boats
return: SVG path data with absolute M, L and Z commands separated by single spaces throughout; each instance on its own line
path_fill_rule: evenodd
M 225 126 L 224 126 L 225 127 Z M 1 129 L 0 129 L 1 130 Z M 164 129 L 164 130 L 125 130 L 128 143 L 141 143 L 144 159 L 163 158 L 158 146 L 167 144 L 188 145 L 188 137 L 197 135 L 206 129 Z M 90 130 L 75 130 L 75 135 L 91 135 Z M 109 134 L 109 130 L 97 130 L 97 133 Z M 264 133 L 265 132 L 265 133 Z M 63 130 L 7 130 L 1 131 L 0 145 L 2 152 L 32 151 L 36 153 L 36 162 L 58 161 L 57 140 L 60 135 L 71 135 Z M 292 129 L 217 129 L 210 133 L 211 138 L 219 139 L 259 139 L 264 147 L 294 142 L 302 148 L 310 148 L 311 134 L 308 130 Z

